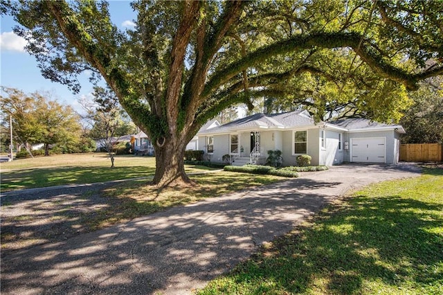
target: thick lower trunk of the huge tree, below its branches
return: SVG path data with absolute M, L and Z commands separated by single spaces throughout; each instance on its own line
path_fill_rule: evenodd
M 163 188 L 165 186 L 190 186 L 194 184 L 186 175 L 184 154 L 186 142 L 184 136 L 172 136 L 154 144 L 156 170 L 152 184 Z

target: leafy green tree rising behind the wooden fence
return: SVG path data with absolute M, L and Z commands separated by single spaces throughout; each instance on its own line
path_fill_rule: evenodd
M 425 80 L 409 96 L 413 105 L 400 120 L 406 130 L 401 143 L 443 143 L 443 77 Z

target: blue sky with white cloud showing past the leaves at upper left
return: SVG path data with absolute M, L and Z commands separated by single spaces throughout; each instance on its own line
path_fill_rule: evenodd
M 120 29 L 132 28 L 132 21 L 136 13 L 132 11 L 129 1 L 110 1 L 109 11 L 111 19 Z M 42 77 L 35 58 L 23 50 L 24 39 L 12 33 L 12 28 L 17 23 L 12 17 L 1 16 L 1 49 L 0 49 L 0 84 L 4 87 L 20 89 L 26 93 L 34 91 L 48 91 L 51 98 L 57 99 L 64 105 L 71 105 L 75 110 L 81 111 L 78 99 L 90 96 L 93 85 L 89 82 L 87 74 L 79 77 L 82 89 L 80 93 L 73 94 L 60 83 L 54 83 Z

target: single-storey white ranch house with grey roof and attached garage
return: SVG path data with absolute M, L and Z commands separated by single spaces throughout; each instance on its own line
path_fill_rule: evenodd
M 315 123 L 307 111 L 255 114 L 224 125 L 202 128 L 192 150 L 204 150 L 213 162 L 233 165 L 264 164 L 268 150 L 282 151 L 283 166 L 296 165 L 300 154 L 311 165 L 343 162 L 388 163 L 399 161 L 401 125 L 375 123 L 361 118 Z

